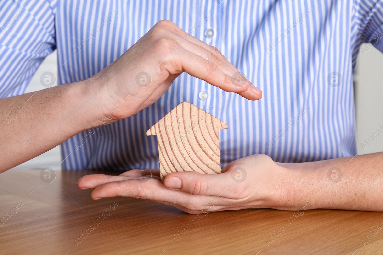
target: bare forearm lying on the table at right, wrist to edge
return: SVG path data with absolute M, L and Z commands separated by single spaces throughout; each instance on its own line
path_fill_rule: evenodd
M 309 209 L 383 211 L 383 153 L 280 165 L 286 176 L 282 209 L 309 201 Z

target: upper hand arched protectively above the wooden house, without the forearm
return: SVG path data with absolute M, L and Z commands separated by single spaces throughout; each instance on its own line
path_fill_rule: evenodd
M 117 105 L 118 111 L 112 114 L 114 120 L 130 117 L 157 101 L 184 71 L 246 99 L 262 97 L 262 92 L 216 47 L 191 36 L 171 21 L 162 20 L 95 75 L 97 84 L 101 85 L 98 93 L 103 111 Z

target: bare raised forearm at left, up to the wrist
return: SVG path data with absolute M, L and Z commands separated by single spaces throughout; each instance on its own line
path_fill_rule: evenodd
M 95 82 L 91 78 L 0 99 L 0 172 L 97 126 L 102 110 Z

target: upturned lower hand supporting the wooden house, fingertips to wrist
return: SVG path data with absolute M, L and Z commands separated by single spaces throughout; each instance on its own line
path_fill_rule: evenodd
M 231 162 L 221 174 L 174 172 L 162 183 L 158 170 L 131 170 L 114 176 L 86 175 L 77 185 L 94 189 L 94 200 L 116 196 L 143 198 L 187 213 L 206 213 L 277 207 L 283 195 L 275 184 L 285 174 L 286 169 L 270 157 L 257 154 Z

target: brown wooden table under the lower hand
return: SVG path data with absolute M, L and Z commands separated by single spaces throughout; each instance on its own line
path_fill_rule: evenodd
M 297 212 L 262 209 L 196 219 L 146 200 L 93 201 L 76 186 L 92 173 L 56 171 L 51 183 L 40 171 L 0 174 L 0 217 L 9 216 L 0 223 L 0 254 L 383 254 L 383 213 L 306 210 L 291 220 Z

